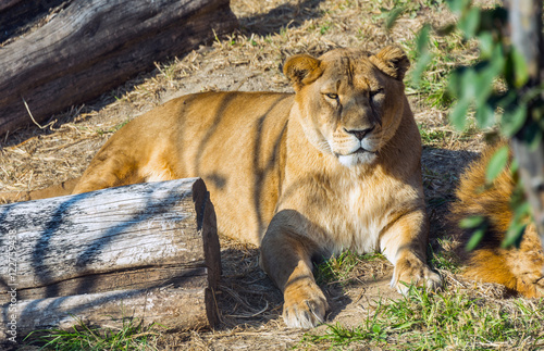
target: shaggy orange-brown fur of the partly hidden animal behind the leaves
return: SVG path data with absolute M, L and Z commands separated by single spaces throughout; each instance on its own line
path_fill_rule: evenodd
M 527 226 L 519 249 L 500 248 L 514 215 L 510 197 L 515 181 L 507 167 L 492 185 L 485 184 L 487 163 L 496 149 L 487 148 L 465 172 L 456 193 L 458 200 L 452 208 L 456 226 L 468 216 L 484 216 L 487 222 L 484 238 L 471 252 L 465 250 L 471 231 L 458 233 L 461 242 L 458 253 L 466 263 L 465 275 L 502 284 L 528 298 L 544 297 L 544 252 L 534 225 Z

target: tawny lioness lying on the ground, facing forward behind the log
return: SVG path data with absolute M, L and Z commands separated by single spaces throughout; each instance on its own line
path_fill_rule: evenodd
M 205 92 L 134 120 L 98 152 L 73 193 L 199 176 L 223 235 L 259 245 L 290 327 L 323 322 L 312 260 L 381 250 L 391 285 L 434 288 L 421 140 L 397 47 L 288 59 L 295 93 Z M 70 190 L 70 189 L 69 189 Z

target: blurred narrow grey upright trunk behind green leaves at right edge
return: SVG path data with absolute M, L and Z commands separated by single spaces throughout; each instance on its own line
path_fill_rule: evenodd
M 509 4 L 511 40 L 526 59 L 529 83 L 523 89 L 530 90 L 544 82 L 542 1 L 512 0 Z M 527 142 L 527 136 L 534 131 L 532 128 L 542 128 L 537 121 L 544 117 L 543 106 L 544 96 L 541 92 L 530 102 L 526 124 L 512 138 L 511 146 L 544 248 L 544 141 L 539 141 L 536 148 L 531 148 Z

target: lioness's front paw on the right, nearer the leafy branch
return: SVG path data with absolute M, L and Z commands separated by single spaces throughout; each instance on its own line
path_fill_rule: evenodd
M 418 259 L 399 260 L 395 265 L 391 286 L 406 294 L 409 285 L 424 286 L 428 290 L 435 290 L 442 286 L 442 279 Z

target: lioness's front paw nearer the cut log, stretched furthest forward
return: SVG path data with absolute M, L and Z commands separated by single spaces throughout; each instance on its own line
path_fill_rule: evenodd
M 326 298 L 310 279 L 290 284 L 284 292 L 283 319 L 292 328 L 313 328 L 323 323 L 329 309 Z

